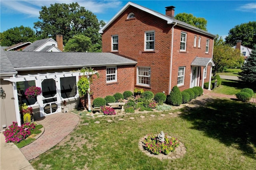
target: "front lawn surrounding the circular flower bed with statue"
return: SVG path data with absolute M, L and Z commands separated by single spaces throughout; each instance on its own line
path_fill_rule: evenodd
M 36 170 L 255 169 L 256 105 L 208 98 L 192 100 L 192 104 L 197 107 L 95 119 L 82 117 L 66 139 L 31 164 Z M 138 148 L 140 138 L 160 131 L 177 137 L 185 145 L 184 157 L 159 160 Z

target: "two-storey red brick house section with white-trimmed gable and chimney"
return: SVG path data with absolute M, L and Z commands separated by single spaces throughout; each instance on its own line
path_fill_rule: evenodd
M 102 29 L 102 52 L 137 61 L 134 86 L 169 94 L 211 80 L 215 35 L 174 19 L 174 6 L 160 14 L 128 2 Z M 210 89 L 210 87 L 209 87 Z

